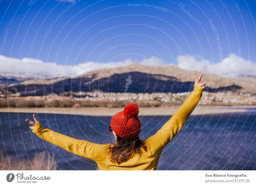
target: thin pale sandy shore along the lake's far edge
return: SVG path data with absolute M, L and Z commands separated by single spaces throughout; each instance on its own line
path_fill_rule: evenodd
M 143 115 L 172 115 L 174 114 L 180 106 L 173 107 L 143 107 L 140 108 L 139 116 Z M 250 111 L 251 108 L 256 108 L 256 106 L 240 106 L 240 107 L 205 107 L 196 106 L 192 114 L 202 115 L 202 114 L 212 114 L 212 113 L 223 113 L 223 112 L 246 112 Z M 102 108 L 102 107 L 83 107 L 83 108 L 0 108 L 0 112 L 20 112 L 20 113 L 54 113 L 54 114 L 77 114 L 77 115 L 88 115 L 88 116 L 112 116 L 117 112 L 122 111 L 123 108 Z

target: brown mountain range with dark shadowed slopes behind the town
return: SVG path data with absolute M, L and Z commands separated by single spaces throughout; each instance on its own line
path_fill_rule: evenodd
M 153 93 L 153 92 L 188 92 L 193 90 L 194 71 L 187 71 L 177 66 L 145 66 L 132 63 L 112 69 L 93 70 L 76 77 L 58 77 L 54 79 L 32 79 L 25 81 L 14 78 L 9 80 L 0 78 L 3 89 L 9 92 L 19 92 L 24 95 L 61 94 L 64 92 L 115 92 L 115 93 Z M 201 72 L 195 71 L 197 76 Z M 249 93 L 252 91 L 254 77 L 228 78 L 215 74 L 204 73 L 201 82 L 206 81 L 209 92 L 230 90 L 233 92 Z M 10 83 L 11 82 L 11 83 Z M 254 85 L 254 84 L 253 84 Z M 26 92 L 25 92 L 26 90 Z

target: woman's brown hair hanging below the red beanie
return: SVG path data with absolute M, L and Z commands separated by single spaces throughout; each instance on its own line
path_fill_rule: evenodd
M 141 154 L 141 148 L 147 151 L 147 146 L 145 146 L 144 141 L 137 137 L 135 140 L 127 140 L 118 135 L 117 142 L 112 143 L 111 141 L 111 133 L 110 133 L 110 141 L 113 145 L 108 145 L 107 153 L 109 155 L 109 159 L 112 163 L 117 163 L 118 165 L 126 162 L 131 159 L 134 154 Z

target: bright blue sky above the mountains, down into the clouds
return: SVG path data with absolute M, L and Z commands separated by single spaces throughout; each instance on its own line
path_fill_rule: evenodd
M 79 64 L 95 61 L 111 67 L 115 62 L 146 60 L 148 65 L 172 64 L 210 73 L 211 66 L 238 65 L 241 57 L 247 65 L 241 75 L 255 74 L 255 1 L 32 2 L 0 2 L 2 66 L 8 58 L 9 66 L 22 58 L 61 66 L 68 57 L 67 65 L 76 66 L 76 71 Z M 10 67 L 0 73 L 7 70 Z

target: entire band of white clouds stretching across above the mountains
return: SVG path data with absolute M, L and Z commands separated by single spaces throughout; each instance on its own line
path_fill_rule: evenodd
M 111 61 L 108 63 L 96 63 L 88 61 L 85 63 L 79 63 L 74 66 L 59 65 L 52 62 L 45 63 L 42 60 L 34 58 L 9 58 L 0 55 L 0 75 L 4 76 L 29 76 L 29 77 L 62 77 L 62 76 L 77 76 L 90 72 L 92 70 L 99 70 L 102 68 L 115 68 L 118 66 L 127 66 L 133 62 L 131 58 L 124 61 Z M 138 62 L 141 65 L 147 66 L 164 66 L 164 62 L 155 56 L 151 58 L 144 58 Z M 212 63 L 209 60 L 202 59 L 200 57 L 194 57 L 190 55 L 180 55 L 177 58 L 177 67 L 189 70 L 200 71 L 209 74 L 217 74 L 220 76 L 235 77 L 244 75 L 254 75 L 256 71 L 256 64 L 251 61 L 247 61 L 244 58 L 239 58 L 235 54 L 230 54 L 224 58 L 222 62 Z

